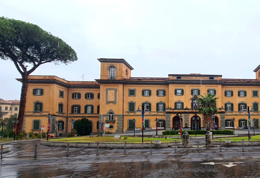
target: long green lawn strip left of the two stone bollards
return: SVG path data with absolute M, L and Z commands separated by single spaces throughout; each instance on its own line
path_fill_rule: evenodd
M 53 142 L 134 142 L 134 143 L 141 143 L 142 137 L 127 137 L 126 140 L 123 140 L 124 137 L 121 137 L 121 140 L 114 139 L 113 137 L 68 137 L 68 138 L 55 138 L 55 139 L 49 139 L 49 141 Z M 172 138 L 147 138 L 144 137 L 144 143 L 149 142 L 150 140 L 161 140 L 162 143 L 167 142 L 173 142 L 174 140 L 180 140 L 180 139 L 172 139 Z

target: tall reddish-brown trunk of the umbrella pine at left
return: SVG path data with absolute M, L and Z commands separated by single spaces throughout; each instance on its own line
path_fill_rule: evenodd
M 24 112 L 25 112 L 25 104 L 26 104 L 26 95 L 27 95 L 27 89 L 28 89 L 28 75 L 27 73 L 24 73 L 22 75 L 22 90 L 21 90 L 21 98 L 20 98 L 20 107 L 19 107 L 19 114 L 18 114 L 18 123 L 17 123 L 17 134 L 22 132 L 23 129 L 23 118 L 24 118 Z

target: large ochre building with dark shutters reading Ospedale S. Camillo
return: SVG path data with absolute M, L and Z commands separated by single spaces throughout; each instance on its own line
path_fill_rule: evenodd
M 183 115 L 183 128 L 204 129 L 203 116 L 197 114 L 194 96 L 212 93 L 216 95 L 218 113 L 215 124 L 219 129 L 248 126 L 248 116 L 242 110 L 252 106 L 251 120 L 259 127 L 260 65 L 254 70 L 256 79 L 223 79 L 221 75 L 169 74 L 167 78 L 131 77 L 133 67 L 124 59 L 98 59 L 101 63 L 100 79 L 96 81 L 67 81 L 56 76 L 29 76 L 27 102 L 23 129 L 39 132 L 44 125 L 46 132 L 50 113 L 50 133 L 58 136 L 71 132 L 71 119 L 86 117 L 92 121 L 93 132 L 102 124 L 110 124 L 106 130 L 114 133 L 133 132 L 142 127 L 142 116 L 136 113 L 145 106 L 147 128 L 179 129 Z M 21 81 L 21 79 L 17 79 Z M 197 107 L 199 103 L 196 103 Z M 140 106 L 140 107 L 139 107 Z M 251 109 L 251 108 L 250 108 Z M 196 115 L 197 114 L 197 115 Z

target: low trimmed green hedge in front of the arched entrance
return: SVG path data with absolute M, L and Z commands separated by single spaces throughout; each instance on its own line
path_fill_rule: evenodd
M 195 130 L 183 130 L 183 133 L 187 131 L 189 135 L 195 135 Z M 212 130 L 211 130 L 212 132 Z M 179 130 L 167 130 L 162 131 L 162 135 L 179 135 Z M 197 135 L 205 135 L 206 130 L 197 130 Z M 233 135 L 233 130 L 214 130 L 214 135 Z

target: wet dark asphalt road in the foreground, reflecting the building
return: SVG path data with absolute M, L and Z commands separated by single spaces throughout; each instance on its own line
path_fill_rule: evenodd
M 226 162 L 242 163 L 216 164 Z M 0 177 L 260 177 L 260 153 L 9 159 L 0 161 Z

